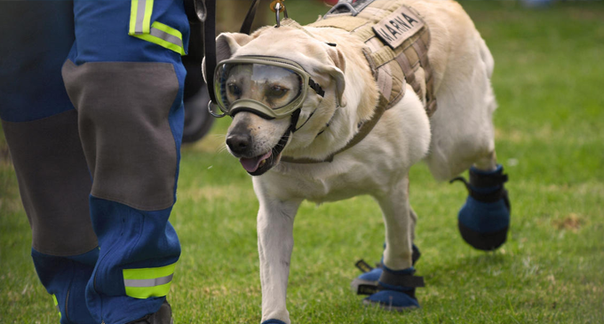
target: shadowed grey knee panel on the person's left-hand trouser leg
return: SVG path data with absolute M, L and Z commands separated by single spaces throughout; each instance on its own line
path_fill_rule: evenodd
M 34 249 L 73 256 L 97 246 L 88 195 L 91 178 L 77 132 L 77 114 L 68 110 L 32 122 L 2 122 Z

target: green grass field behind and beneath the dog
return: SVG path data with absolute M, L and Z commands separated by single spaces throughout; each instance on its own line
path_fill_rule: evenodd
M 604 3 L 462 4 L 496 61 L 497 155 L 513 204 L 507 243 L 493 253 L 465 244 L 456 218 L 465 190 L 417 165 L 411 203 L 426 288 L 417 289 L 422 309 L 389 313 L 363 307 L 349 289 L 354 262 L 377 261 L 382 250 L 377 204 L 303 203 L 288 293 L 294 323 L 604 322 Z M 292 1 L 289 11 L 308 22 L 325 10 Z M 260 320 L 258 202 L 239 162 L 219 150 L 227 122 L 183 150 L 171 217 L 183 247 L 170 295 L 176 323 Z M 30 240 L 12 166 L 0 161 L 2 323 L 56 321 Z

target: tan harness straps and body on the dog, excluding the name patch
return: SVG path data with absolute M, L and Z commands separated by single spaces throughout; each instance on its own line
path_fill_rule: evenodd
M 330 156 L 322 161 L 310 158 L 296 159 L 290 156 L 282 156 L 282 162 L 311 164 L 332 162 L 336 154 L 346 151 L 367 137 L 370 131 L 376 126 L 379 118 L 384 115 L 385 110 L 393 107 L 404 96 L 406 83 L 411 85 L 413 91 L 417 93 L 420 99 L 425 99 L 426 115 L 430 117 L 436 111 L 436 98 L 433 93 L 433 71 L 428 60 L 430 31 L 427 25 L 422 21 L 425 25 L 424 27 L 405 39 L 400 46 L 392 48 L 377 37 L 373 27 L 377 22 L 384 20 L 385 17 L 398 10 L 401 7 L 401 3 L 391 0 L 379 4 L 373 2 L 368 4 L 370 5 L 367 8 L 363 7 L 363 9 L 368 11 L 366 14 L 363 14 L 362 11 L 348 14 L 330 11 L 325 17 L 309 26 L 315 28 L 344 29 L 365 43 L 366 46 L 362 49 L 362 53 L 365 55 L 371 72 L 380 88 L 379 103 L 374 115 L 369 121 L 359 125 L 359 131 L 346 146 L 330 154 Z M 421 20 L 421 15 L 417 10 L 408 6 L 405 6 L 405 8 Z M 422 93 L 422 86 L 416 77 L 419 67 L 424 69 L 425 93 Z M 402 77 L 396 77 L 397 74 Z

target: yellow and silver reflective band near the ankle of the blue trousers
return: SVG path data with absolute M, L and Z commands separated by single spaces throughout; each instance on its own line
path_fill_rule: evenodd
M 145 299 L 168 295 L 175 267 L 176 263 L 157 268 L 123 269 L 126 296 Z

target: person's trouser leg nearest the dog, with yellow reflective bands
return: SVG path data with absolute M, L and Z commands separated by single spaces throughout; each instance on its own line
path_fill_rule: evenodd
M 97 322 L 123 324 L 158 312 L 179 259 L 168 217 L 188 22 L 182 1 L 76 1 L 74 12 L 76 43 L 62 74 L 92 174 L 100 247 L 86 299 Z

